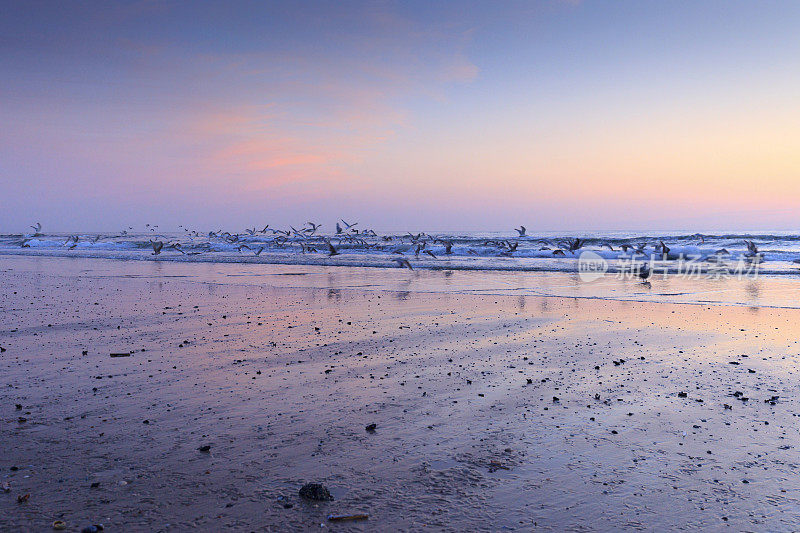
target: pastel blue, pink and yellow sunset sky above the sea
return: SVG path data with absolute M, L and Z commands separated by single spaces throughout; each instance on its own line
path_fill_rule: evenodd
M 800 231 L 800 3 L 0 4 L 0 232 Z

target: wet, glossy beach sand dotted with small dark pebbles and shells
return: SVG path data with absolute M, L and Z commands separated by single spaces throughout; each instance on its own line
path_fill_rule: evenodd
M 800 528 L 800 310 L 236 268 L 0 257 L 0 529 Z

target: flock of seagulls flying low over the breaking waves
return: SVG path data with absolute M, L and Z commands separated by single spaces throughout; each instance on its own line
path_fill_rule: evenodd
M 341 224 L 339 223 L 341 222 Z M 324 235 L 321 233 L 320 228 L 322 224 L 314 222 L 307 222 L 300 229 L 294 226 L 289 226 L 289 229 L 270 228 L 269 224 L 265 225 L 262 229 L 256 227 L 247 228 L 244 233 L 230 233 L 227 231 L 211 231 L 208 234 L 203 234 L 198 231 L 192 231 L 183 226 L 179 226 L 183 232 L 188 236 L 191 250 L 184 250 L 184 244 L 179 241 L 162 240 L 158 237 L 158 226 L 146 224 L 145 227 L 153 233 L 154 237 L 149 240 L 149 245 L 152 247 L 152 255 L 159 255 L 164 250 L 174 250 L 175 252 L 184 255 L 199 255 L 207 251 L 212 251 L 212 244 L 216 242 L 227 243 L 234 245 L 239 253 L 244 253 L 245 250 L 251 252 L 255 256 L 261 255 L 266 248 L 299 248 L 301 253 L 326 253 L 329 257 L 340 255 L 346 249 L 360 249 L 360 250 L 375 250 L 379 252 L 388 252 L 393 255 L 393 261 L 397 263 L 398 267 L 408 268 L 413 270 L 411 262 L 408 260 L 406 254 L 414 254 L 414 257 L 419 258 L 420 254 L 430 256 L 434 259 L 439 255 L 451 256 L 453 255 L 453 246 L 456 244 L 457 239 L 448 237 L 437 237 L 428 235 L 424 232 L 413 234 L 411 232 L 405 235 L 378 235 L 374 230 L 358 228 L 358 222 L 347 222 L 340 220 L 336 222 L 335 233 Z M 36 223 L 31 226 L 33 235 L 25 238 L 22 241 L 22 247 L 29 247 L 30 240 L 33 238 L 41 237 L 42 225 Z M 128 228 L 133 230 L 133 228 Z M 119 236 L 128 234 L 128 230 L 121 232 Z M 481 245 L 484 248 L 483 254 L 475 250 L 473 247 L 467 247 L 466 253 L 468 255 L 486 255 L 486 250 L 494 250 L 495 255 L 511 257 L 520 244 L 520 240 L 524 240 L 528 244 L 537 244 L 540 246 L 539 251 L 549 251 L 554 257 L 562 256 L 567 257 L 575 256 L 576 253 L 586 246 L 586 241 L 581 238 L 569 238 L 563 240 L 548 240 L 548 239 L 531 239 L 527 236 L 527 229 L 525 226 L 514 228 L 518 233 L 518 240 L 512 239 L 487 239 Z M 271 238 L 265 240 L 269 235 Z M 701 234 L 694 235 L 699 239 L 699 244 L 705 244 L 705 238 Z M 86 239 L 87 242 L 92 244 L 99 242 L 104 237 L 96 235 L 92 239 Z M 204 243 L 196 243 L 195 239 L 204 239 Z M 78 246 L 81 237 L 79 235 L 70 235 L 64 246 L 69 249 L 74 249 Z M 744 241 L 747 247 L 747 252 L 743 257 L 753 262 L 761 262 L 764 260 L 763 252 L 758 250 L 756 244 L 751 240 Z M 618 245 L 618 249 L 609 242 L 600 242 L 601 247 L 607 247 L 611 251 L 620 251 L 624 254 L 629 254 L 631 258 L 647 258 L 657 257 L 660 259 L 677 259 L 675 254 L 670 254 L 670 247 L 663 241 L 659 241 L 655 245 L 649 245 L 646 242 L 633 244 Z M 724 248 L 717 250 L 710 254 L 705 259 L 708 261 L 718 260 L 725 256 L 730 256 L 730 252 Z M 800 263 L 800 259 L 794 261 Z M 641 274 L 640 274 L 641 275 Z M 649 275 L 649 274 L 648 274 Z M 642 275 L 643 278 L 646 276 Z

